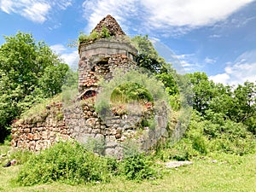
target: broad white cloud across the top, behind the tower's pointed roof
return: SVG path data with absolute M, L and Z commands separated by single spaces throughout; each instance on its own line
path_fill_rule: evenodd
M 183 34 L 225 20 L 251 2 L 253 0 L 85 0 L 83 8 L 84 18 L 89 21 L 87 30 L 110 14 L 125 27 L 131 19 L 136 21 L 133 25 L 140 26 L 137 28 L 143 28 L 143 31 L 166 30 Z

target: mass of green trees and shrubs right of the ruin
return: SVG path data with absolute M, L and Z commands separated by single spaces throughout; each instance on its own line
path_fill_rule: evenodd
M 256 84 L 215 84 L 206 73 L 199 72 L 177 75 L 160 58 L 148 36 L 136 36 L 132 42 L 139 51 L 139 66 L 165 84 L 171 106 L 180 108 L 180 90 L 184 87 L 184 96 L 193 107 L 194 114 L 183 139 L 174 146 L 170 141 L 164 147 L 169 151 L 164 153 L 168 160 L 189 160 L 212 151 L 238 155 L 255 152 Z

